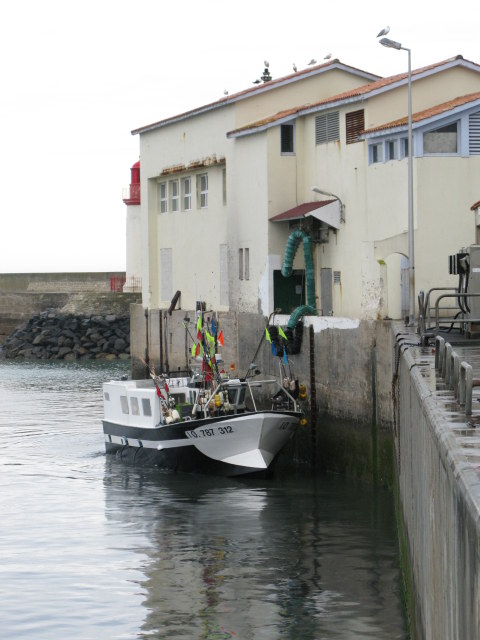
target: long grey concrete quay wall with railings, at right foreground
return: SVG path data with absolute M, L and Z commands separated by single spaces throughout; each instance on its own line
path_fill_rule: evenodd
M 453 392 L 438 390 L 431 353 L 431 347 L 406 348 L 396 383 L 394 439 L 412 629 L 427 640 L 473 640 L 480 638 L 478 418 L 459 417 Z

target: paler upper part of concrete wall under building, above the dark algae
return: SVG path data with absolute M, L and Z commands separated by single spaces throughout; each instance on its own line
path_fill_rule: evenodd
M 208 312 L 206 316 L 209 317 Z M 187 318 L 187 321 L 185 320 Z M 282 358 L 272 354 L 265 340 L 265 319 L 259 314 L 218 313 L 223 331 L 225 367 L 245 375 L 252 362 L 265 375 L 278 375 Z M 276 316 L 283 327 L 288 316 Z M 186 324 L 186 328 L 185 328 Z M 170 371 L 194 362 L 191 347 L 196 336 L 192 310 L 148 310 L 131 307 L 131 354 L 134 377 L 144 373 L 142 359 Z M 319 413 L 382 428 L 392 425 L 392 335 L 390 322 L 359 322 L 346 318 L 304 318 L 300 352 L 289 355 L 293 369 L 310 393 L 315 391 Z M 311 394 L 310 394 L 311 396 Z

